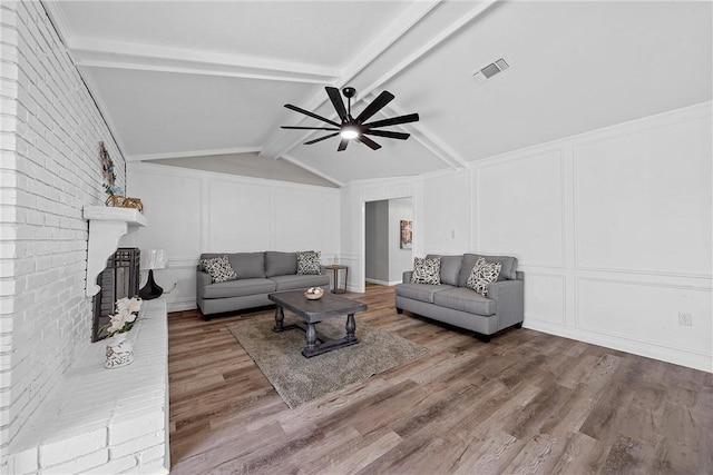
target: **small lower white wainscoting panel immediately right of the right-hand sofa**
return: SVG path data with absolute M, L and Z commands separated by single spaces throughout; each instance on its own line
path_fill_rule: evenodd
M 525 270 L 525 326 L 538 320 L 566 325 L 566 284 L 563 275 L 536 274 Z

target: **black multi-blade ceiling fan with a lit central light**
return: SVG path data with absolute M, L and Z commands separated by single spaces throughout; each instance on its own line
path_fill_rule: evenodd
M 333 120 L 326 119 L 322 116 L 318 116 L 314 112 L 310 112 L 309 110 L 304 110 L 291 103 L 285 103 L 287 109 L 294 110 L 300 113 L 304 113 L 305 116 L 310 116 L 314 119 L 326 122 L 333 127 L 297 127 L 297 126 L 281 126 L 283 129 L 296 129 L 296 130 L 334 130 L 333 133 L 329 133 L 324 137 L 320 137 L 314 140 L 310 140 L 304 142 L 304 145 L 312 145 L 319 141 L 340 136 L 341 141 L 339 142 L 339 147 L 336 151 L 346 150 L 346 145 L 349 145 L 350 140 L 356 140 L 364 144 L 367 147 L 372 150 L 380 149 L 381 146 L 370 139 L 367 136 L 377 136 L 377 137 L 387 137 L 390 139 L 399 139 L 406 140 L 411 135 L 404 132 L 394 132 L 391 130 L 374 130 L 381 127 L 395 126 L 399 123 L 408 123 L 416 122 L 419 120 L 418 113 L 408 113 L 406 116 L 392 117 L 391 119 L 377 120 L 373 122 L 367 122 L 369 118 L 371 118 L 374 113 L 379 112 L 385 105 L 391 102 L 394 96 L 389 91 L 381 92 L 369 106 L 361 111 L 359 116 L 355 118 L 352 117 L 352 98 L 356 93 L 356 89 L 345 87 L 342 89 L 342 93 L 346 98 L 346 108 L 344 107 L 344 102 L 342 101 L 342 97 L 340 96 L 339 89 L 326 86 L 324 88 L 326 90 L 326 95 L 329 96 L 334 109 L 336 110 L 336 115 L 339 116 L 341 123 L 338 123 Z

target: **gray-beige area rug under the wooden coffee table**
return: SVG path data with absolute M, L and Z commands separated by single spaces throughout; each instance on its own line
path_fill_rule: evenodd
M 285 311 L 285 325 L 297 323 Z M 356 320 L 358 345 L 305 358 L 302 329 L 274 333 L 273 318 L 251 318 L 227 325 L 280 397 L 295 408 L 309 400 L 341 389 L 346 385 L 399 366 L 427 349 L 400 336 Z M 346 316 L 318 324 L 318 331 L 329 338 L 344 336 Z

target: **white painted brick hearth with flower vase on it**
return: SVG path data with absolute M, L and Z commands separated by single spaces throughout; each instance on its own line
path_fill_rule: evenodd
M 107 343 L 92 343 L 23 427 L 9 473 L 168 473 L 166 303 L 144 301 L 139 317 L 135 360 L 106 369 Z

